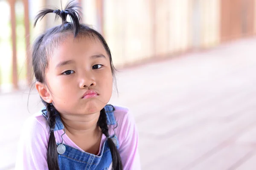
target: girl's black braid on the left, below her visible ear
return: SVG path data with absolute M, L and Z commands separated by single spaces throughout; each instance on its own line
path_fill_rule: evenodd
M 42 100 L 43 101 L 43 100 Z M 47 149 L 47 164 L 49 170 L 59 170 L 58 166 L 58 153 L 57 153 L 57 146 L 54 136 L 54 127 L 56 123 L 56 115 L 55 115 L 55 107 L 47 102 L 44 102 L 44 105 L 46 106 L 47 110 L 47 123 L 50 128 L 50 136 L 48 141 L 48 149 Z

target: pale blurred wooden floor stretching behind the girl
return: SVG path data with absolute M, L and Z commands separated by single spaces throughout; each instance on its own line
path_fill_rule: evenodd
M 120 70 L 111 104 L 130 108 L 143 170 L 256 169 L 256 39 Z M 0 94 L 0 169 L 13 169 L 32 91 Z

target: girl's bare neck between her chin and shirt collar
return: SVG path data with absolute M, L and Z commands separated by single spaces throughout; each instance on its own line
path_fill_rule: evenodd
M 88 136 L 99 132 L 99 127 L 97 126 L 99 114 L 100 112 L 90 115 L 61 114 L 61 120 L 67 133 L 72 136 Z

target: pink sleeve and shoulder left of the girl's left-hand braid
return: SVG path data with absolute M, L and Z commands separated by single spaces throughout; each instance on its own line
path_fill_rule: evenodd
M 49 133 L 41 113 L 30 116 L 23 124 L 17 147 L 16 169 L 46 169 Z

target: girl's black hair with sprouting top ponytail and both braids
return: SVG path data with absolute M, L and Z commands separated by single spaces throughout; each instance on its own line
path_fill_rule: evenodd
M 36 25 L 37 21 L 39 19 L 42 19 L 46 14 L 48 13 L 55 13 L 56 18 L 62 19 L 62 24 L 60 26 L 55 26 L 53 28 L 50 28 L 43 34 L 41 34 L 34 42 L 34 45 L 32 47 L 32 65 L 33 70 L 35 74 L 35 79 L 38 82 L 46 83 L 45 80 L 45 71 L 48 67 L 48 59 L 50 54 L 52 53 L 52 47 L 55 47 L 58 45 L 58 42 L 61 38 L 65 38 L 67 36 L 67 32 L 73 31 L 74 38 L 79 35 L 85 35 L 90 38 L 96 38 L 99 39 L 102 45 L 104 46 L 109 59 L 111 63 L 111 72 L 113 75 L 113 80 L 116 82 L 115 77 L 115 68 L 113 66 L 112 57 L 111 57 L 111 51 L 108 47 L 108 44 L 106 43 L 105 39 L 102 37 L 102 35 L 95 31 L 94 29 L 90 28 L 89 26 L 85 24 L 79 23 L 81 17 L 79 13 L 79 4 L 75 0 L 70 0 L 67 5 L 65 6 L 64 10 L 60 10 L 57 8 L 44 8 L 43 10 L 39 11 L 38 15 L 35 17 L 35 23 Z M 67 15 L 71 18 L 71 23 L 67 22 Z M 55 109 L 55 107 L 51 103 L 45 102 L 41 98 L 42 102 L 46 106 L 47 110 L 47 123 L 49 125 L 49 142 L 48 142 L 48 149 L 47 149 L 47 164 L 49 170 L 59 170 L 58 166 L 58 152 L 57 152 L 57 146 L 55 142 L 55 136 L 54 136 L 54 127 L 55 127 L 55 116 L 56 112 L 58 111 Z M 107 125 L 107 117 L 105 113 L 105 109 L 103 108 L 100 111 L 99 120 L 97 122 L 97 125 L 101 128 L 102 133 L 108 138 L 108 125 Z M 119 155 L 119 152 L 116 148 L 116 145 L 113 143 L 111 138 L 108 138 L 108 145 L 111 150 L 111 156 L 112 156 L 112 169 L 113 170 L 122 170 L 122 161 L 121 157 Z

